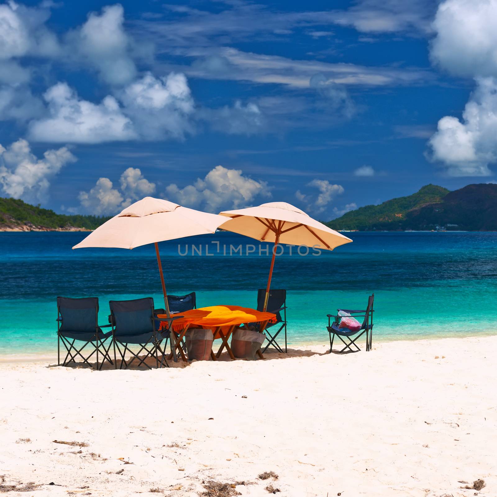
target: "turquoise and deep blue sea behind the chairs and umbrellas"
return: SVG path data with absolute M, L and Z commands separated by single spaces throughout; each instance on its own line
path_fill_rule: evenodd
M 101 324 L 109 300 L 151 296 L 164 307 L 153 245 L 73 250 L 86 235 L 0 233 L 0 359 L 56 353 L 57 296 L 98 297 Z M 373 345 L 497 334 L 497 233 L 346 235 L 353 243 L 333 251 L 278 250 L 271 286 L 287 290 L 289 346 L 329 343 L 327 314 L 363 309 L 372 293 Z M 159 246 L 168 293 L 195 291 L 197 307 L 256 307 L 270 245 L 220 232 Z

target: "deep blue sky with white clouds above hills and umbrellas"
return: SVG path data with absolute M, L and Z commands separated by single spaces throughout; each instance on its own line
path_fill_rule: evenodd
M 0 2 L 0 194 L 320 219 L 494 181 L 497 0 Z

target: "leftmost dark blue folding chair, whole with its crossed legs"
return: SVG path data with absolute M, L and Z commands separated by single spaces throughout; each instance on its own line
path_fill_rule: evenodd
M 72 299 L 69 297 L 57 297 L 57 362 L 61 365 L 60 344 L 67 350 L 66 357 L 62 362 L 66 366 L 70 362 L 76 362 L 77 356 L 83 359 L 83 364 L 89 363 L 89 358 L 96 354 L 96 369 L 101 369 L 105 360 L 112 364 L 108 355 L 112 340 L 105 349 L 105 342 L 112 335 L 111 331 L 104 332 L 102 328 L 110 325 L 98 325 L 98 298 L 86 297 Z M 75 346 L 75 342 L 84 342 L 83 346 Z M 90 345 L 91 353 L 84 357 L 82 352 Z M 85 352 L 86 353 L 86 352 Z M 102 361 L 98 365 L 98 355 L 101 354 Z M 69 359 L 70 358 L 70 359 Z M 69 360 L 68 360 L 69 359 Z

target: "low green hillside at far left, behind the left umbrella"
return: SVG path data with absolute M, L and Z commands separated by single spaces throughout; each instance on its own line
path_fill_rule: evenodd
M 94 230 L 109 218 L 56 214 L 14 198 L 0 197 L 0 230 L 27 226 L 29 229 Z

